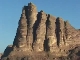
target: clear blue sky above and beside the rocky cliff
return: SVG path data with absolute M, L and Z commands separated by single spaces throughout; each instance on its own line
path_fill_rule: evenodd
M 0 52 L 13 43 L 22 7 L 29 2 L 33 2 L 38 11 L 44 10 L 80 28 L 80 0 L 0 0 Z

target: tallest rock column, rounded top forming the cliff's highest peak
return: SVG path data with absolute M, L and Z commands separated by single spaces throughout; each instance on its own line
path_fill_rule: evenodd
M 28 49 L 32 50 L 32 43 L 33 43 L 33 26 L 35 21 L 37 20 L 37 9 L 36 6 L 32 3 L 28 4 L 28 10 L 26 13 L 27 17 L 27 45 Z

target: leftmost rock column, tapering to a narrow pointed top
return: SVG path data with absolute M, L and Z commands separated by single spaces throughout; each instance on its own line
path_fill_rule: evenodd
M 17 47 L 18 50 L 26 51 L 26 35 L 27 35 L 27 19 L 25 16 L 25 10 L 22 10 L 21 18 L 19 20 L 19 26 L 13 42 L 13 47 Z

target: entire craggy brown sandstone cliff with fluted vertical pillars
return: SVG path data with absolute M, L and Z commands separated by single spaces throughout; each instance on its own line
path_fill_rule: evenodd
M 33 59 L 38 54 L 46 58 L 47 54 L 68 56 L 68 50 L 80 45 L 79 40 L 80 30 L 73 28 L 68 21 L 44 11 L 37 12 L 36 6 L 29 3 L 23 7 L 13 45 L 6 48 L 9 52 L 6 55 L 5 50 L 2 60 L 12 60 L 13 57 L 14 60 L 17 57 L 22 59 L 25 56 L 32 56 Z M 40 58 L 43 58 L 41 55 Z

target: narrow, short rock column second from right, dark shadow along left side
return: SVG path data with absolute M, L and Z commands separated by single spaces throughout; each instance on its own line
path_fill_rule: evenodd
M 65 44 L 65 35 L 64 35 L 64 21 L 62 18 L 56 19 L 56 37 L 57 37 L 57 45 L 61 47 Z

